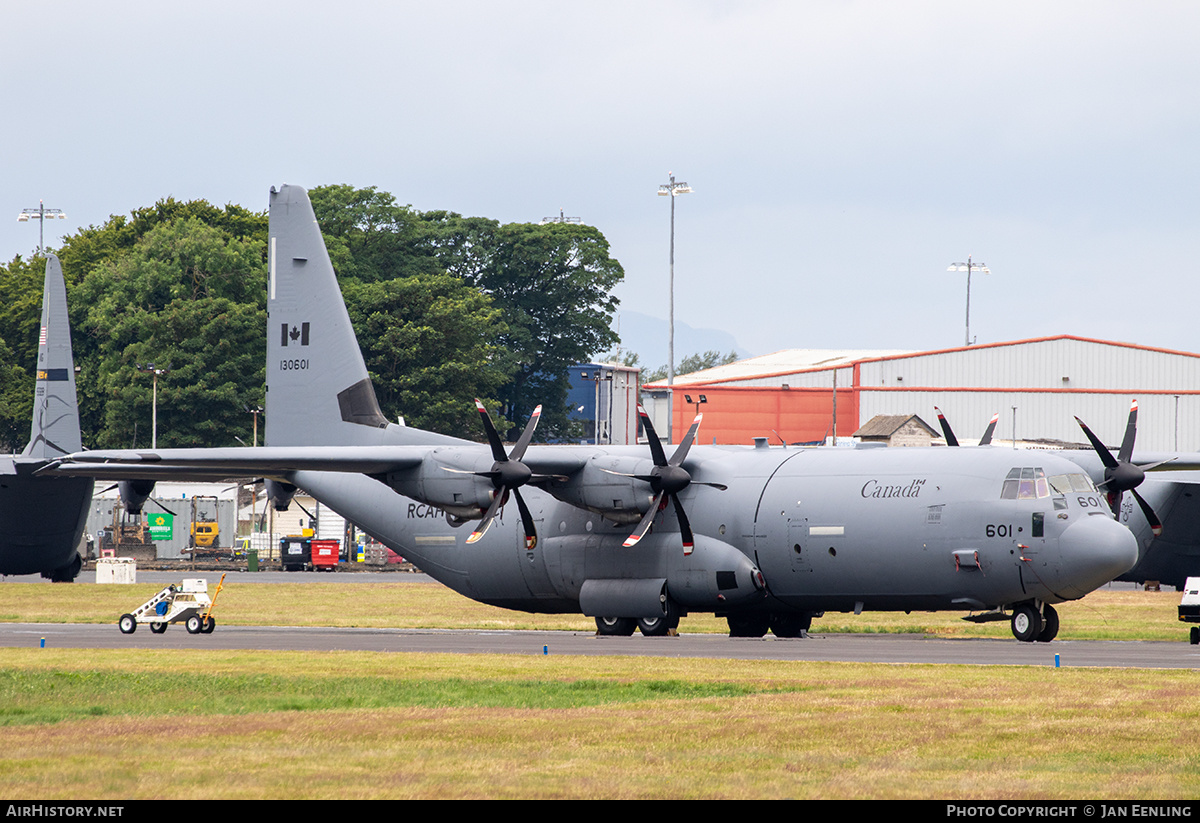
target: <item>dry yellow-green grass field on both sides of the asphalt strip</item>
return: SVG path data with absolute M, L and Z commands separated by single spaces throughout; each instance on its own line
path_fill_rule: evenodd
M 156 589 L 2 585 L 0 619 L 115 621 Z M 1060 608 L 1061 636 L 1182 643 L 1177 603 L 1099 591 Z M 233 578 L 215 614 L 593 627 L 415 581 Z M 954 614 L 814 630 L 1010 637 Z M 0 797 L 1189 799 L 1198 691 L 1189 671 L 0 649 Z

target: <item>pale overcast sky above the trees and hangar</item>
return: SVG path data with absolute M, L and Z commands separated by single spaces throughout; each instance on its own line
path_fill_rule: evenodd
M 1200 4 L 6 4 L 0 258 L 167 196 L 578 216 L 624 307 L 781 348 L 1200 350 Z M 7 215 L 7 216 L 5 216 Z M 683 356 L 684 353 L 678 353 Z

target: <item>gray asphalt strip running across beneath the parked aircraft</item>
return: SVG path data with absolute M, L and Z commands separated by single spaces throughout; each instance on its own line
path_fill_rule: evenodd
M 961 663 L 1000 666 L 1198 668 L 1200 647 L 1186 635 L 1177 643 L 1116 641 L 944 639 L 910 635 L 821 635 L 803 639 L 679 637 L 598 637 L 569 631 L 448 631 L 419 629 L 301 629 L 222 626 L 211 635 L 188 635 L 182 625 L 154 635 L 139 626 L 122 635 L 116 624 L 0 624 L 0 647 L 72 649 L 262 649 L 292 651 L 412 651 L 451 654 L 636 655 L 646 657 L 727 657 L 736 660 L 814 660 L 882 663 Z

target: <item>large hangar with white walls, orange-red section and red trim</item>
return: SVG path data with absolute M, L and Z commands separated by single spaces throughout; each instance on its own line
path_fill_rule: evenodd
M 1200 354 L 1070 335 L 934 352 L 790 349 L 643 390 L 662 434 L 673 394 L 677 440 L 697 412 L 700 443 L 778 444 L 848 440 L 880 414 L 936 421 L 937 406 L 964 444 L 997 413 L 997 440 L 1080 443 L 1078 416 L 1120 444 L 1138 400 L 1139 451 L 1200 450 Z

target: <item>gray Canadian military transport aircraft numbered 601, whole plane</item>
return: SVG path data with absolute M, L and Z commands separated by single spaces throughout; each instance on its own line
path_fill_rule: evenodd
M 1050 453 L 694 446 L 697 416 L 667 456 L 644 414 L 647 446 L 535 446 L 536 413 L 505 451 L 481 406 L 487 445 L 397 426 L 305 190 L 271 190 L 268 254 L 268 446 L 89 451 L 58 473 L 265 476 L 276 506 L 304 488 L 468 597 L 582 612 L 606 635 L 667 633 L 689 612 L 798 637 L 824 612 L 955 609 L 1050 641 L 1052 603 L 1138 559 Z

